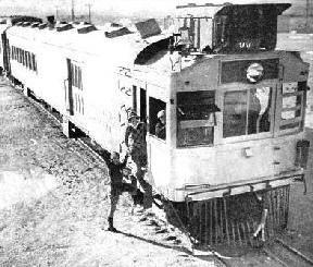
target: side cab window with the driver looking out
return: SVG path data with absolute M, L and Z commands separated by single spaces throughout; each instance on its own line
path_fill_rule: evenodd
M 158 138 L 166 139 L 165 121 L 166 104 L 149 97 L 149 133 Z M 161 118 L 164 116 L 163 118 Z

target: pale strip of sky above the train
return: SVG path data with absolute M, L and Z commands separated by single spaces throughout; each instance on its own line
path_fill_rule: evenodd
M 72 1 L 76 14 L 87 14 L 91 4 L 91 13 L 116 14 L 124 16 L 142 15 L 147 17 L 160 14 L 174 13 L 177 4 L 195 3 L 254 3 L 254 2 L 291 2 L 295 8 L 301 7 L 304 13 L 306 0 L 0 0 L 0 15 L 11 14 L 71 14 Z M 312 0 L 309 0 L 310 2 Z M 313 3 L 312 9 L 313 9 Z M 299 9 L 298 9 L 299 10 Z M 292 9 L 290 10 L 292 12 Z M 290 13 L 289 11 L 289 13 Z M 299 12 L 299 11 L 298 11 Z

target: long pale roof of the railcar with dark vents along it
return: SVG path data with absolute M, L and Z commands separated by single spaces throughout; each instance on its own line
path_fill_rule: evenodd
M 77 28 L 82 27 L 82 24 L 80 26 L 73 24 L 73 26 L 71 29 L 57 32 L 57 27 L 39 29 L 30 25 L 17 25 L 12 26 L 8 31 L 8 34 L 20 36 L 30 41 L 59 47 L 72 52 L 101 58 L 109 57 L 108 59 L 114 60 L 117 64 L 121 62 L 123 65 L 133 65 L 136 57 L 142 49 L 154 41 L 167 37 L 164 34 L 159 34 L 143 39 L 135 27 L 130 27 L 129 34 L 109 38 L 105 36 L 105 29 L 103 28 L 98 28 L 86 34 L 78 34 Z M 116 31 L 118 27 L 107 28 L 109 32 L 113 32 L 114 29 Z

